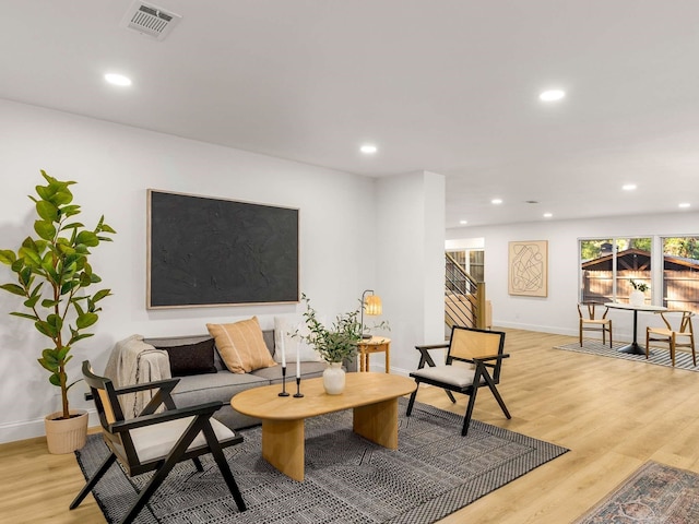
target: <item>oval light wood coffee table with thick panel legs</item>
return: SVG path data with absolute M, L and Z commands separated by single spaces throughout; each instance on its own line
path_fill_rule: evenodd
M 386 373 L 347 373 L 345 391 L 328 395 L 322 378 L 301 381 L 301 398 L 279 396 L 281 384 L 238 393 L 230 405 L 262 419 L 262 456 L 280 472 L 304 480 L 304 420 L 352 408 L 355 433 L 398 449 L 398 397 L 415 391 L 413 379 Z

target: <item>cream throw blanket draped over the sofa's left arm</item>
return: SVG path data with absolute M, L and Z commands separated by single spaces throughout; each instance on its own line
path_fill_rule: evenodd
M 142 358 L 144 355 L 149 355 L 149 358 Z M 171 378 L 170 361 L 167 352 L 146 344 L 142 335 L 131 335 L 115 344 L 105 368 L 105 377 L 111 379 L 117 386 L 169 379 Z M 155 391 L 119 395 L 123 416 L 127 419 L 137 417 Z

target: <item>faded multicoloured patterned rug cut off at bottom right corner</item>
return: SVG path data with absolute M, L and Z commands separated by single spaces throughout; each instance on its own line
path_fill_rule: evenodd
M 648 462 L 573 524 L 699 522 L 699 475 Z

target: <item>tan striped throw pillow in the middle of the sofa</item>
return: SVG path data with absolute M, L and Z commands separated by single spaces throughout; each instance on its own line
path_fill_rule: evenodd
M 206 329 L 216 341 L 216 348 L 229 371 L 249 373 L 276 366 L 264 344 L 257 317 L 233 324 L 206 324 Z

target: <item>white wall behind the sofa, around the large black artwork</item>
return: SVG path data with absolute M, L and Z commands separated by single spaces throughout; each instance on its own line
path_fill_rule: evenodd
M 299 207 L 301 290 L 329 318 L 355 309 L 367 285 L 380 287 L 376 261 L 356 249 L 377 242 L 374 179 L 0 100 L 0 248 L 19 247 L 32 230 L 26 195 L 43 183 L 39 169 L 79 182 L 73 192 L 85 224 L 104 213 L 117 230 L 115 241 L 93 258 L 114 296 L 104 301 L 95 336 L 74 348 L 73 378 L 85 358 L 104 369 L 114 343 L 133 333 L 205 333 L 205 322 L 252 314 L 270 329 L 274 314 L 303 310 L 299 305 L 146 310 L 146 188 Z M 400 201 L 394 211 L 404 212 Z M 10 281 L 9 269 L 0 266 L 0 282 Z M 58 389 L 36 362 L 45 342 L 29 321 L 8 314 L 17 308 L 19 297 L 0 293 L 2 442 L 43 434 L 43 417 L 59 407 Z M 384 317 L 391 320 L 389 308 Z M 72 407 L 91 407 L 81 398 L 84 391 L 82 384 L 74 388 Z

